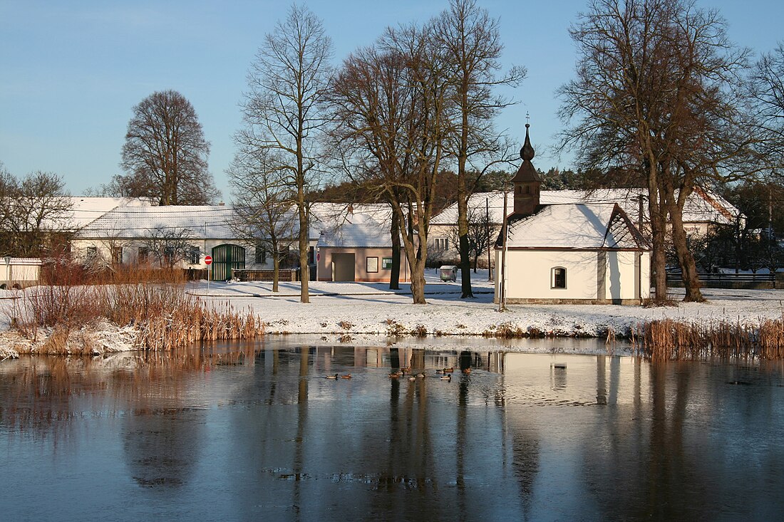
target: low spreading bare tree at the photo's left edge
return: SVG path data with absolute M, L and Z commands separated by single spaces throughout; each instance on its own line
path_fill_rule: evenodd
M 0 165 L 2 167 L 2 165 Z M 60 176 L 32 172 L 16 179 L 0 170 L 0 239 L 5 256 L 40 257 L 60 253 L 74 232 L 71 199 Z

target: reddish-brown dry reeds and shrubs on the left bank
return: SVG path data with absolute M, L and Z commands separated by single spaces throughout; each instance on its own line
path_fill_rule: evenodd
M 24 292 L 12 310 L 16 328 L 33 343 L 41 328 L 49 332 L 38 353 L 95 353 L 98 341 L 85 326 L 102 318 L 132 325 L 141 350 L 264 334 L 263 322 L 250 310 L 240 312 L 229 303 L 208 307 L 188 294 L 181 270 L 139 266 L 108 271 L 87 285 L 78 268 L 61 263 L 47 278 L 48 284 Z M 74 334 L 82 339 L 74 339 Z

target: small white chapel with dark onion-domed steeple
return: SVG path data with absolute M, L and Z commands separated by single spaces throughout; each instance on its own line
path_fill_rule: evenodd
M 503 234 L 495 244 L 495 266 L 506 258 L 506 303 L 641 303 L 650 292 L 650 249 L 639 230 L 615 203 L 540 205 L 529 128 L 512 178 L 506 247 Z

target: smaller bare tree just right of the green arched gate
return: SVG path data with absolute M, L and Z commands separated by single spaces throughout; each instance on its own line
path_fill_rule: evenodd
M 272 259 L 272 291 L 278 292 L 281 261 L 295 235 L 296 212 L 292 212 L 296 192 L 285 183 L 273 150 L 242 143 L 228 170 L 234 186 L 234 222 L 231 227 L 254 248 L 263 248 Z

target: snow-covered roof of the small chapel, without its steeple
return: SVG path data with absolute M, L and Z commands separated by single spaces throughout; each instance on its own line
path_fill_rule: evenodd
M 546 205 L 510 221 L 507 248 L 647 248 L 615 203 Z

